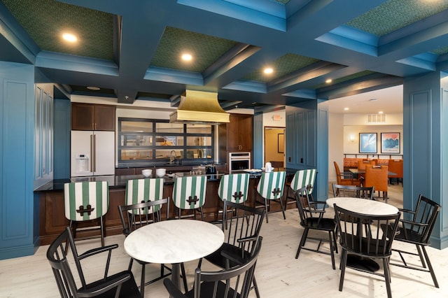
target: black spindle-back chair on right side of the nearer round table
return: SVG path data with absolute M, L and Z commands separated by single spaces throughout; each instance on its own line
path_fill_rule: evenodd
M 265 210 L 252 208 L 232 201 L 224 201 L 224 209 L 230 212 L 223 214 L 221 223 L 225 235 L 224 243 L 211 255 L 204 257 L 218 267 L 229 269 L 237 264 L 248 262 L 255 251 L 260 237 L 261 225 L 265 217 Z M 232 260 L 228 257 L 232 256 Z M 198 267 L 201 267 L 202 260 Z M 253 278 L 255 295 L 260 297 L 257 282 Z

